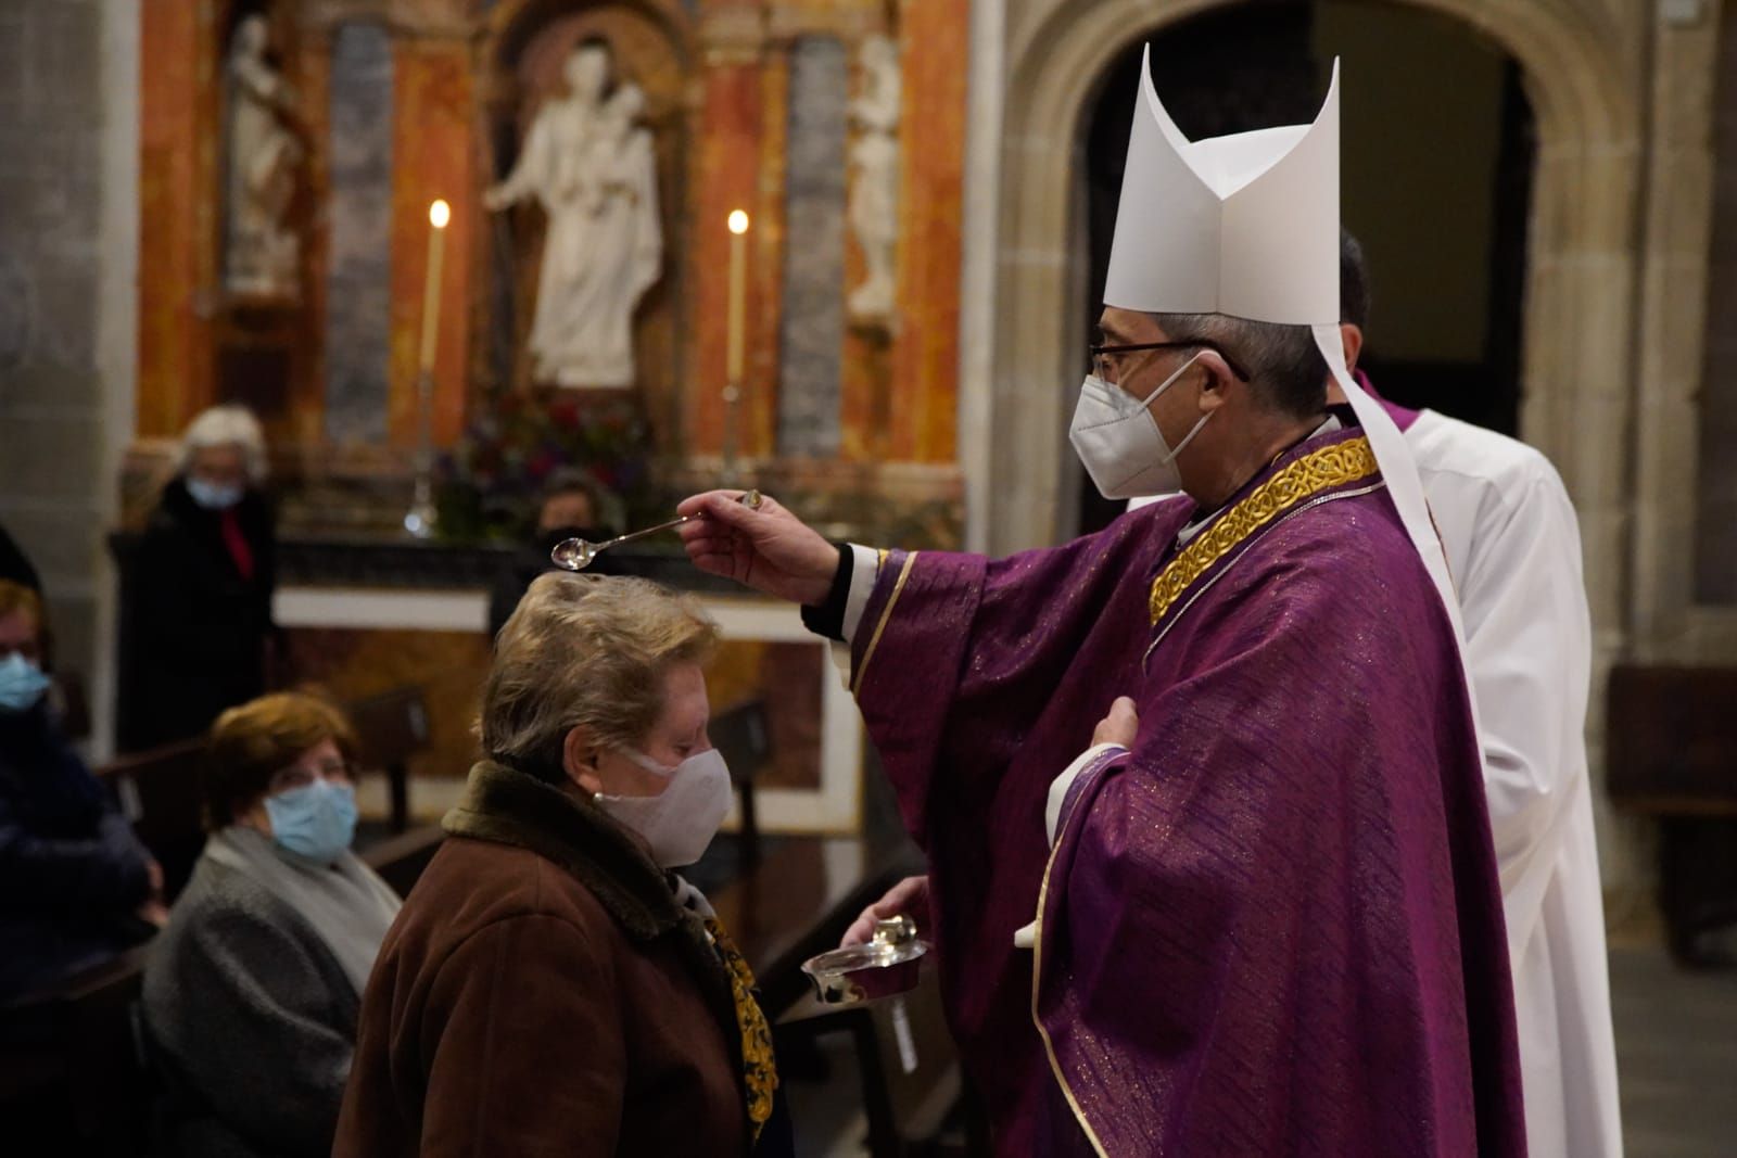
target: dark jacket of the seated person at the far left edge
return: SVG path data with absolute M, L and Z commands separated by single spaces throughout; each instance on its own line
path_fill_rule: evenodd
M 149 861 L 49 708 L 0 712 L 0 1002 L 137 944 Z

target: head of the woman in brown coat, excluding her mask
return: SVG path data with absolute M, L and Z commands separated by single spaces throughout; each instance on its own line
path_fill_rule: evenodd
M 549 573 L 500 628 L 478 731 L 490 759 L 585 792 L 658 795 L 710 747 L 717 627 L 650 580 Z M 637 760 L 634 757 L 639 757 Z

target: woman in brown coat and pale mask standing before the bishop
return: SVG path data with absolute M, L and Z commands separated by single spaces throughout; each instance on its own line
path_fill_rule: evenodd
M 368 983 L 335 1155 L 789 1148 L 754 979 L 669 872 L 730 806 L 714 641 L 646 580 L 532 583 L 483 689 L 486 759 Z

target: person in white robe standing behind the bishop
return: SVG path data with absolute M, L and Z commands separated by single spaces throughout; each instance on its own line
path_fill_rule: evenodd
M 1343 253 L 1344 351 L 1364 344 L 1362 250 Z M 1532 1158 L 1622 1153 L 1605 908 L 1586 774 L 1591 620 L 1581 531 L 1525 443 L 1383 401 L 1417 457 L 1459 585 L 1503 880 Z

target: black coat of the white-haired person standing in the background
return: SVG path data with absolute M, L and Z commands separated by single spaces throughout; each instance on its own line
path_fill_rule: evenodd
M 201 734 L 224 708 L 266 691 L 266 641 L 276 634 L 276 535 L 271 505 L 247 491 L 233 519 L 207 510 L 174 479 L 127 568 L 118 743 L 139 752 Z M 233 523 L 226 536 L 224 524 Z M 250 564 L 243 575 L 234 531 Z

